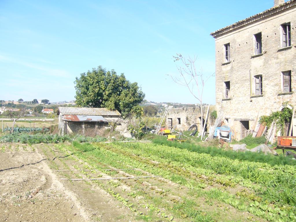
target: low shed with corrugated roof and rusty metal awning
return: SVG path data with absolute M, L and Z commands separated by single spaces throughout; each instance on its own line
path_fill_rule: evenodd
M 100 128 L 107 127 L 110 122 L 121 118 L 117 110 L 87 107 L 59 107 L 59 134 L 79 133 L 83 135 L 96 134 Z

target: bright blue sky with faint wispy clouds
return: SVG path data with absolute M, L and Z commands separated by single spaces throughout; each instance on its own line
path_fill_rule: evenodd
M 75 77 L 102 65 L 138 82 L 147 100 L 197 103 L 172 81 L 173 55 L 197 56 L 211 75 L 210 33 L 271 7 L 273 0 L 0 0 L 0 99 L 73 100 Z M 215 77 L 205 88 L 204 102 L 215 104 Z

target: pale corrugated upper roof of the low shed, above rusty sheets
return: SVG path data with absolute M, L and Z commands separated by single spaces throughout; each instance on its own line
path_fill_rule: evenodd
M 87 108 L 87 107 L 59 107 L 58 114 L 61 115 L 95 115 L 95 116 L 121 116 L 117 110 L 106 108 Z

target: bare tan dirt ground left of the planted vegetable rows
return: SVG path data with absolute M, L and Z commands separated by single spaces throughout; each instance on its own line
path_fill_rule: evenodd
M 36 147 L 36 146 L 35 146 Z M 7 145 L 0 152 L 0 221 L 132 221 L 107 192 L 61 182 L 40 149 Z

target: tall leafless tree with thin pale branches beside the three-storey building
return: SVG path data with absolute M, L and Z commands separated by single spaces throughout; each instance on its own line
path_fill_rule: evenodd
M 201 127 L 200 134 L 201 136 L 204 133 L 203 129 L 203 109 L 202 109 L 202 95 L 205 87 L 205 83 L 212 77 L 213 75 L 205 76 L 202 73 L 202 69 L 200 71 L 196 70 L 195 62 L 197 57 L 193 58 L 188 57 L 185 58 L 181 54 L 177 54 L 173 56 L 174 62 L 178 63 L 177 69 L 179 71 L 180 77 L 171 76 L 173 81 L 181 86 L 187 87 L 189 92 L 198 100 L 200 103 L 200 114 L 201 114 Z

